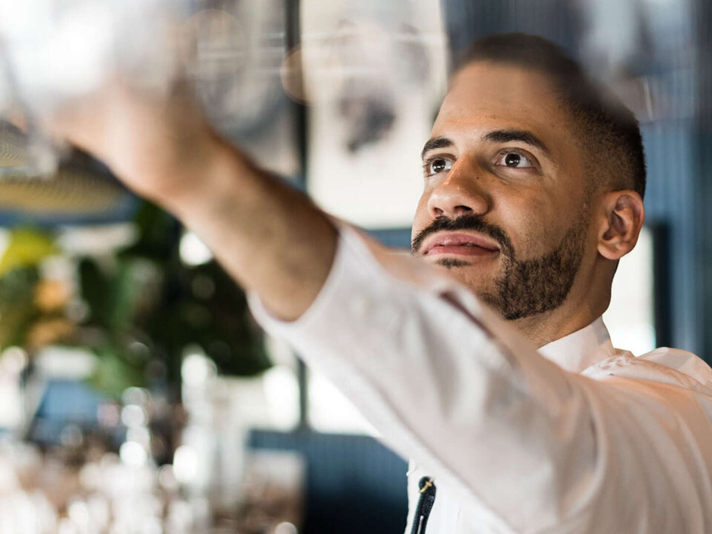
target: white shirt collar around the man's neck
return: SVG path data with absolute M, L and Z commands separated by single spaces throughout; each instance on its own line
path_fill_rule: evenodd
M 541 355 L 567 371 L 581 372 L 614 355 L 611 337 L 602 318 L 569 335 L 544 345 Z

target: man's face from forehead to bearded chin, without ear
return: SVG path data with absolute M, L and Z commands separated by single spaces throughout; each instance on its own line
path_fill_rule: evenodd
M 557 308 L 590 237 L 583 156 L 543 75 L 467 66 L 423 153 L 413 253 L 449 269 L 506 318 Z

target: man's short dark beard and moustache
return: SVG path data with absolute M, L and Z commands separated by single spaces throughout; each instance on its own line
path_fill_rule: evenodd
M 416 253 L 427 236 L 441 230 L 473 230 L 495 239 L 503 255 L 504 272 L 494 281 L 494 290 L 476 293 L 485 303 L 499 310 L 503 318 L 521 319 L 554 310 L 566 300 L 581 266 L 586 213 L 584 209 L 553 251 L 536 258 L 518 260 L 506 232 L 474 215 L 457 219 L 437 217 L 413 239 L 411 249 Z M 436 263 L 449 269 L 471 265 L 455 258 L 442 258 Z

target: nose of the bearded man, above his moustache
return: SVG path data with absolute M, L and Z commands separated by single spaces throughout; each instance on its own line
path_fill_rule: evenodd
M 463 215 L 484 215 L 490 209 L 491 199 L 483 189 L 480 174 L 475 166 L 460 160 L 447 176 L 432 190 L 428 199 L 431 217 L 446 216 L 456 219 Z

